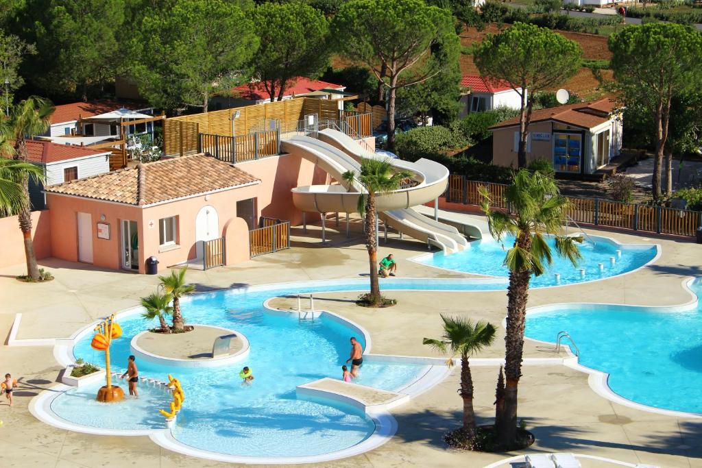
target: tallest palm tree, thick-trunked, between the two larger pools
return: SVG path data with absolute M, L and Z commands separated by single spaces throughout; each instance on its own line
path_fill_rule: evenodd
M 517 386 L 522 375 L 529 281 L 532 275 L 543 274 L 545 265 L 550 265 L 552 261 L 551 248 L 544 234 L 555 236 L 556 253 L 570 260 L 573 265 L 581 258 L 576 243 L 581 243 L 583 238 L 564 234 L 563 225 L 567 221 L 569 201 L 559 194 L 556 182 L 550 175 L 520 170 L 504 194 L 512 213 L 491 211 L 489 192 L 483 187 L 480 194 L 490 234 L 498 241 L 508 235 L 510 242 L 514 238 L 504 261 L 510 271 L 505 335 L 505 387 L 497 392 L 498 395 L 504 395 L 504 401 L 498 401 L 497 407 L 504 409 L 496 415 L 498 443 L 504 448 L 510 448 L 517 442 Z

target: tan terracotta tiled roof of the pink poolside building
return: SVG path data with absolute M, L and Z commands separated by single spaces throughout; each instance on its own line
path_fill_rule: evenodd
M 252 182 L 260 179 L 230 163 L 195 154 L 52 185 L 46 192 L 143 206 Z

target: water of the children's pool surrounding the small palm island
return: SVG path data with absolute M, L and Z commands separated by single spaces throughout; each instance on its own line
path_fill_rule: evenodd
M 306 290 L 349 288 L 359 286 L 322 284 Z M 322 377 L 340 379 L 341 366 L 350 353 L 351 336 L 358 337 L 364 347 L 365 343 L 355 328 L 330 316 L 299 321 L 297 314 L 278 316 L 265 312 L 263 302 L 267 298 L 293 292 L 297 291 L 254 288 L 193 295 L 183 300 L 187 321 L 237 330 L 249 339 L 251 353 L 241 363 L 201 369 L 170 368 L 138 359 L 141 376 L 167 380 L 166 375 L 172 373 L 183 385 L 185 404 L 173 430 L 178 441 L 230 455 L 294 457 L 354 446 L 373 433 L 373 421 L 356 408 L 296 398 L 297 385 Z M 139 314 L 125 316 L 119 323 L 123 335 L 112 344 L 111 363 L 113 371 L 124 372 L 131 354 L 131 338 L 157 323 L 147 323 Z M 91 338 L 92 333 L 88 333 L 77 342 L 74 356 L 102 365 L 104 354 L 90 347 Z M 249 366 L 256 377 L 250 386 L 241 385 L 238 373 L 243 366 Z M 420 364 L 366 359 L 356 382 L 380 389 L 399 389 L 426 369 L 427 366 Z M 51 408 L 63 419 L 86 426 L 165 427 L 164 417 L 157 410 L 168 409 L 171 397 L 167 392 L 140 384 L 140 399 L 126 396 L 124 404 L 105 405 L 94 401 L 102 385 L 101 381 L 71 389 L 54 399 Z M 120 385 L 126 392 L 126 382 Z

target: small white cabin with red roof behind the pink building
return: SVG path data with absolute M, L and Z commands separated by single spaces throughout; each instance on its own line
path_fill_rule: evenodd
M 29 162 L 44 169 L 46 186 L 110 172 L 110 149 L 89 149 L 27 140 L 27 153 Z M 44 185 L 30 184 L 29 198 L 35 210 L 44 209 L 46 202 L 43 190 Z

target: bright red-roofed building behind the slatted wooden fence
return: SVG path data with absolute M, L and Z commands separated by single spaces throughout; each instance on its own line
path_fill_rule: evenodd
M 288 83 L 283 92 L 282 100 L 300 98 L 340 99 L 345 96 L 343 91 L 346 86 L 327 81 L 313 80 L 300 76 Z M 337 91 L 338 93 L 335 93 Z M 227 109 L 229 107 L 242 107 L 251 104 L 270 102 L 270 95 L 265 91 L 265 86 L 260 81 L 242 84 L 232 88 L 231 96 L 215 96 L 210 101 L 212 109 Z M 276 98 L 278 92 L 276 91 Z M 341 102 L 341 101 L 340 101 Z M 343 105 L 343 104 L 340 104 Z

